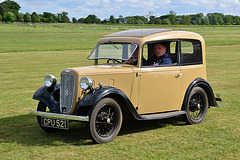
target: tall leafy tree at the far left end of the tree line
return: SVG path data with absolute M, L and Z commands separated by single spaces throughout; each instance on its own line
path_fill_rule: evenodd
M 12 12 L 14 15 L 17 15 L 20 8 L 21 7 L 17 2 L 5 0 L 4 2 L 0 3 L 0 14 L 4 15 L 8 12 Z

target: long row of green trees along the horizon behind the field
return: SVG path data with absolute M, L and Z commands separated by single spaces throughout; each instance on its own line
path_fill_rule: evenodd
M 0 21 L 6 23 L 13 22 L 33 22 L 33 23 L 87 23 L 87 24 L 159 24 L 159 25 L 240 25 L 240 17 L 233 15 L 224 15 L 222 13 L 203 13 L 190 15 L 177 15 L 170 11 L 167 15 L 155 16 L 149 12 L 146 16 L 127 16 L 120 15 L 115 18 L 111 15 L 109 18 L 101 20 L 96 15 L 88 15 L 85 18 L 72 18 L 70 21 L 67 12 L 52 14 L 43 12 L 19 13 L 20 5 L 11 0 L 5 0 L 0 3 Z

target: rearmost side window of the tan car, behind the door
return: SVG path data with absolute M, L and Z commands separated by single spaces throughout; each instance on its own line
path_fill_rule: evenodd
M 181 41 L 181 64 L 202 64 L 202 47 L 198 40 Z

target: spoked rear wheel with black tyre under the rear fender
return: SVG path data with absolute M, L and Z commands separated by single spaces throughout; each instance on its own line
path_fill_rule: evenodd
M 192 89 L 186 106 L 186 114 L 184 119 L 188 124 L 201 123 L 208 111 L 208 97 L 206 92 L 200 88 L 195 87 Z

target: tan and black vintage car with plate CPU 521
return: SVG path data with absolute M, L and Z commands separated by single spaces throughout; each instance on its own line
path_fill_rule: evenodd
M 158 49 L 171 63 L 149 63 Z M 69 122 L 81 121 L 95 143 L 106 143 L 118 135 L 123 119 L 181 115 L 188 124 L 197 124 L 221 100 L 207 82 L 205 42 L 197 33 L 169 29 L 112 33 L 97 42 L 88 59 L 93 66 L 64 69 L 60 83 L 46 75 L 45 85 L 35 92 L 33 99 L 39 104 L 30 113 L 37 115 L 44 131 L 68 130 Z

